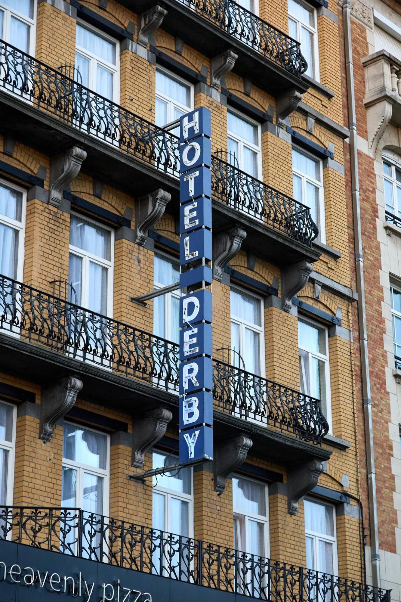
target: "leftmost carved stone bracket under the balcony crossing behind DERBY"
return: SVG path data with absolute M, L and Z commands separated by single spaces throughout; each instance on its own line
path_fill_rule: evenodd
M 39 438 L 50 441 L 57 420 L 63 417 L 75 404 L 76 396 L 82 389 L 78 376 L 67 376 L 58 382 L 42 388 L 40 402 Z

